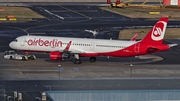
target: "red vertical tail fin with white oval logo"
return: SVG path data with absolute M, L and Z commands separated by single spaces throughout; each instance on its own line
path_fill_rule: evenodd
M 155 43 L 162 44 L 166 26 L 168 22 L 168 17 L 162 17 L 154 27 L 148 32 L 148 34 L 141 40 L 142 43 Z

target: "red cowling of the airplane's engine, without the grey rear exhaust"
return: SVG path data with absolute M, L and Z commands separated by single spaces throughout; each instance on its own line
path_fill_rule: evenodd
M 62 60 L 62 52 L 57 52 L 57 51 L 54 51 L 54 52 L 50 52 L 49 54 L 49 57 L 51 60 Z

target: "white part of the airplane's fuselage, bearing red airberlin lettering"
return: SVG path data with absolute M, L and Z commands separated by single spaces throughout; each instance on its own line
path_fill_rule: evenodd
M 69 48 L 71 53 L 103 53 L 124 49 L 135 44 L 135 41 L 67 38 L 51 36 L 20 36 L 12 41 L 9 46 L 16 50 L 27 51 L 63 51 L 72 41 Z

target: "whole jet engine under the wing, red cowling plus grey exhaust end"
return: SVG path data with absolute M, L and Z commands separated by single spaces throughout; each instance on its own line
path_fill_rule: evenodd
M 51 60 L 63 60 L 70 58 L 70 53 L 54 51 L 50 52 L 49 57 Z

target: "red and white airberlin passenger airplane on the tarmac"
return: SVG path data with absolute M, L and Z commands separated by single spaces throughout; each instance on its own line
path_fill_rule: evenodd
M 81 64 L 81 57 L 97 56 L 133 57 L 170 49 L 177 44 L 163 44 L 168 17 L 162 17 L 140 41 L 87 39 L 51 36 L 19 36 L 10 42 L 15 50 L 25 52 L 49 52 L 51 60 L 64 60 L 74 56 L 75 64 Z M 133 39 L 134 40 L 134 39 Z

